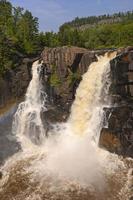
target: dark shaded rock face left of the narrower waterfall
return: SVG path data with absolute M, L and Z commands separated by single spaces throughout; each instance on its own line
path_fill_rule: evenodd
M 15 69 L 0 77 L 0 109 L 19 101 L 31 80 L 32 62 L 37 58 L 24 58 Z M 1 110 L 0 110 L 1 113 Z

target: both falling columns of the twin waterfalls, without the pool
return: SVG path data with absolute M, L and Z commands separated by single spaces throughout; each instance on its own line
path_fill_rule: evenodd
M 110 60 L 116 53 L 106 53 L 93 62 L 83 75 L 76 91 L 76 98 L 71 108 L 67 124 L 71 134 L 86 135 L 98 142 L 103 118 L 103 104 L 107 102 L 109 88 Z M 45 127 L 41 113 L 47 110 L 46 94 L 40 80 L 42 63 L 34 62 L 32 80 L 26 92 L 25 101 L 20 103 L 14 117 L 13 133 L 22 145 L 42 144 L 45 141 Z M 106 99 L 106 101 L 105 101 Z M 29 139 L 27 139 L 27 137 Z

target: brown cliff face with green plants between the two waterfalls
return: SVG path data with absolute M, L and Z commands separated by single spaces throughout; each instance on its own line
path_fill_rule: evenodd
M 81 76 L 96 60 L 94 52 L 78 47 L 45 48 L 42 52 L 49 102 L 66 120 Z M 54 113 L 54 112 L 53 112 Z M 56 112 L 55 112 L 56 113 Z M 56 115 L 55 117 L 56 118 Z

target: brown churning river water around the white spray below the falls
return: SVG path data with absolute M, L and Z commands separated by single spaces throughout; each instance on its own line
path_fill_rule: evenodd
M 38 166 L 38 162 L 44 162 L 47 155 L 18 153 L 13 157 L 4 166 L 1 200 L 129 200 L 132 197 L 130 159 L 119 158 L 115 171 L 102 171 L 102 179 L 97 184 L 84 185 L 77 180 L 36 171 L 34 164 Z

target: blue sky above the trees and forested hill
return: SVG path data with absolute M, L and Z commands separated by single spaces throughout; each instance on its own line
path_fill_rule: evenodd
M 41 31 L 58 31 L 75 17 L 133 10 L 133 0 L 10 0 L 39 18 Z

